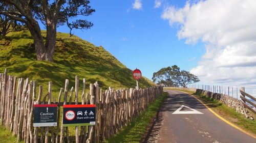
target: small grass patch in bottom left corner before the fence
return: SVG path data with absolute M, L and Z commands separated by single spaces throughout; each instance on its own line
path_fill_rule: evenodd
M 17 141 L 16 136 L 12 136 L 12 132 L 0 125 L 0 142 L 1 143 L 14 143 Z M 20 141 L 24 143 L 24 141 Z

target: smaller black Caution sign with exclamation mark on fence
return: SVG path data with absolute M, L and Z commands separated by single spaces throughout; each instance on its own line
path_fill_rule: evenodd
M 57 104 L 35 104 L 33 126 L 57 126 L 57 106 Z

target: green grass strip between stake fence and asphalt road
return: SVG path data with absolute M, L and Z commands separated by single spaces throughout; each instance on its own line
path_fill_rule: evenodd
M 139 142 L 145 133 L 145 129 L 150 123 L 150 120 L 157 113 L 157 110 L 161 107 L 164 99 L 167 97 L 167 93 L 162 93 L 154 102 L 152 102 L 148 108 L 141 113 L 134 121 L 123 128 L 119 133 L 115 134 L 105 142 Z

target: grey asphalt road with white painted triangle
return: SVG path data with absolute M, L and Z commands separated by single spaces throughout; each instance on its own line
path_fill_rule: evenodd
M 172 90 L 165 92 L 169 95 L 147 142 L 256 142 L 255 138 L 216 117 L 189 94 Z

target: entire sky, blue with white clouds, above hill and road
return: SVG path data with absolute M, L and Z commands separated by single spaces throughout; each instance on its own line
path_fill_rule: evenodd
M 177 65 L 198 84 L 245 87 L 256 94 L 256 1 L 91 1 L 89 30 L 74 35 L 102 46 L 152 79 Z M 65 26 L 58 32 L 69 33 Z

